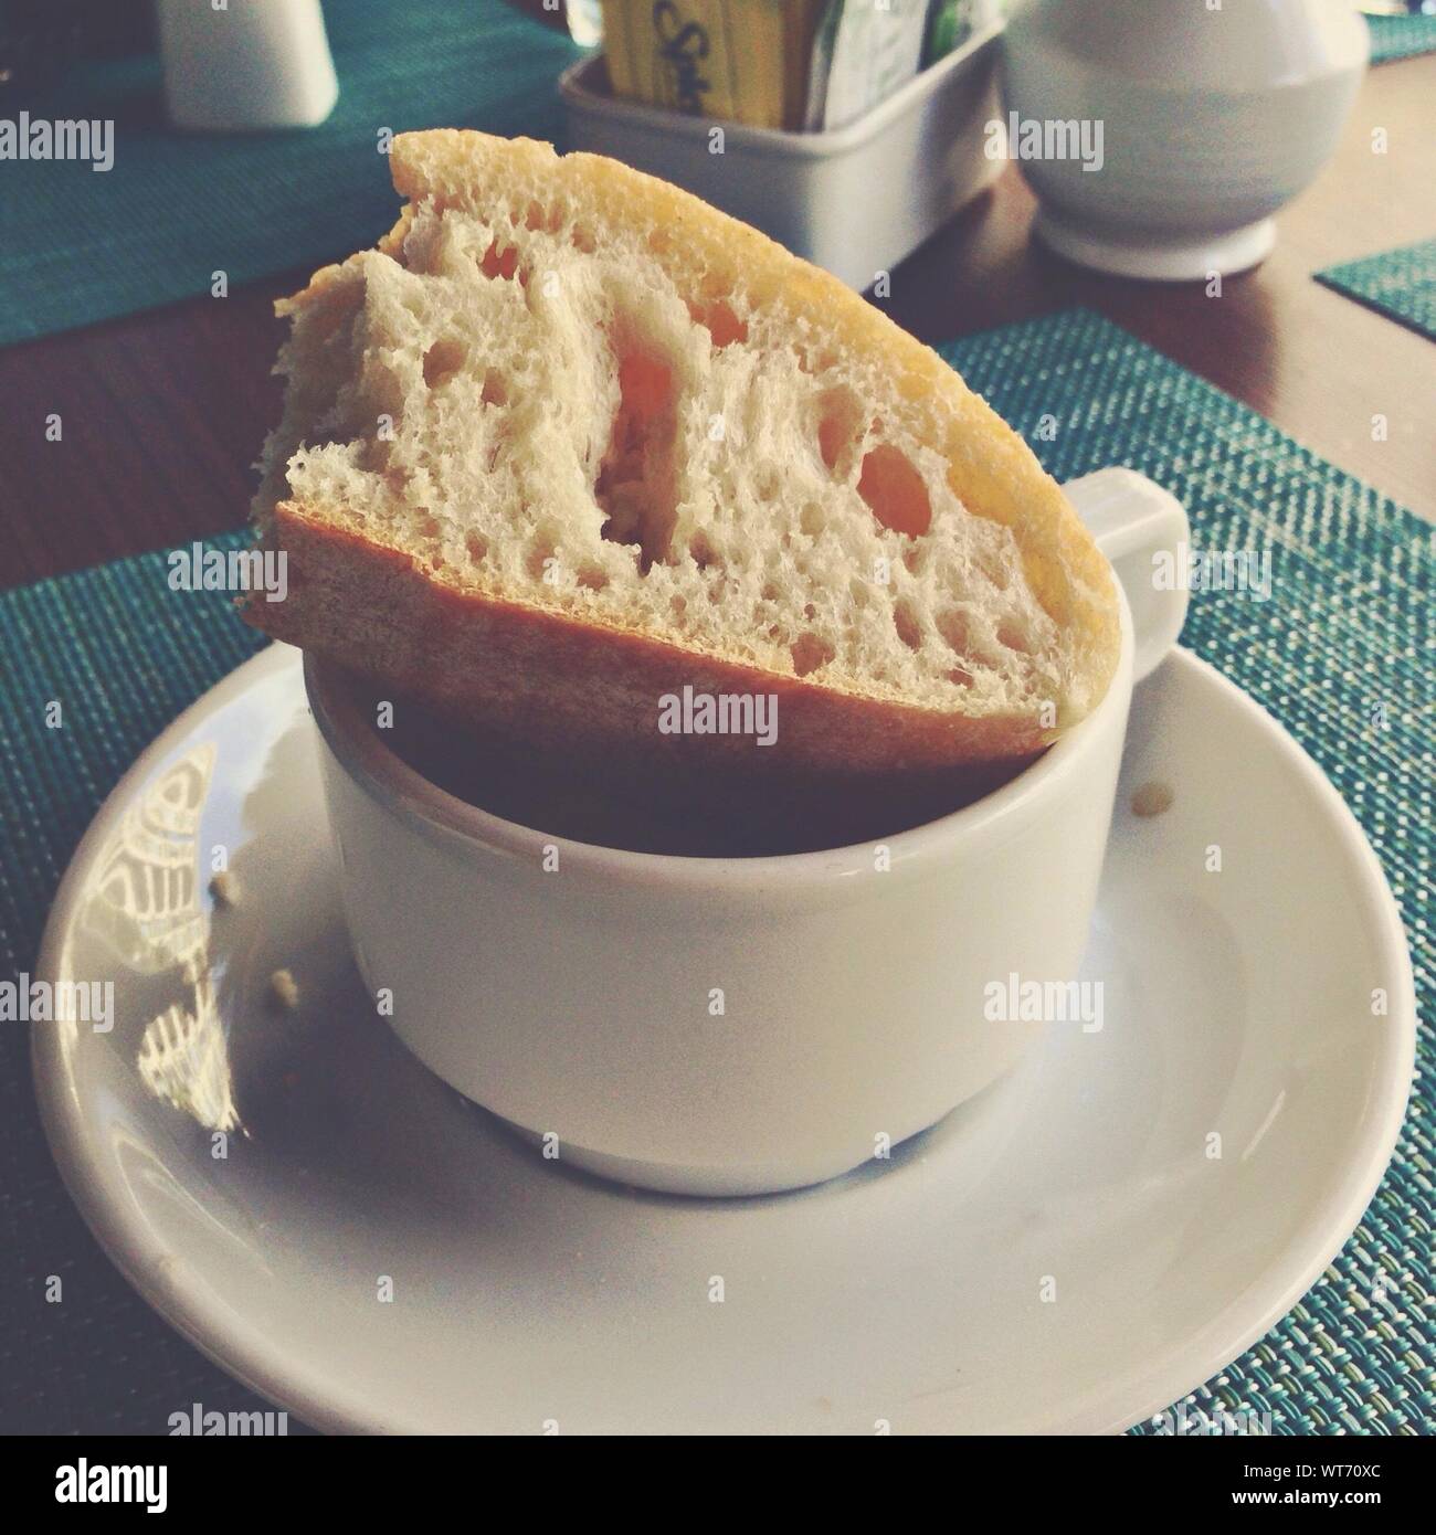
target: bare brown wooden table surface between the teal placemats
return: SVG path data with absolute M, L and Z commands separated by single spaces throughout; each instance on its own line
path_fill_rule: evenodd
M 894 272 L 883 307 L 937 342 L 1087 304 L 1436 520 L 1436 344 L 1312 279 L 1436 230 L 1433 97 L 1436 55 L 1376 66 L 1339 154 L 1278 216 L 1275 253 L 1221 298 L 1089 275 L 1034 246 L 1032 196 L 1009 167 Z M 1378 127 L 1384 155 L 1371 150 Z M 280 407 L 270 305 L 304 276 L 0 350 L 0 585 L 244 522 Z M 65 419 L 60 444 L 45 441 L 49 411 Z

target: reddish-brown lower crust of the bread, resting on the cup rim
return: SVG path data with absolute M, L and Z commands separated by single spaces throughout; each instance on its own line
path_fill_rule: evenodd
M 276 640 L 558 751 L 596 749 L 753 772 L 925 774 L 1008 761 L 1051 744 L 1031 717 L 969 718 L 835 692 L 608 625 L 448 585 L 399 550 L 283 502 L 266 548 L 289 556 L 289 594 L 252 593 L 244 617 Z M 362 622 L 355 620 L 362 614 Z M 667 694 L 771 694 L 777 740 L 662 734 Z

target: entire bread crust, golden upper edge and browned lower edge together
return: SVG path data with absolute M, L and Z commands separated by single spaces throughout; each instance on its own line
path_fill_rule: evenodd
M 515 166 L 539 181 L 622 209 L 667 232 L 648 250 L 674 281 L 694 255 L 716 272 L 742 269 L 749 298 L 774 313 L 820 315 L 857 355 L 880 356 L 902 398 L 921 416 L 965 507 L 1009 527 L 1038 603 L 1072 642 L 1072 686 L 1055 720 L 1026 714 L 968 715 L 865 697 L 842 678 L 799 678 L 714 655 L 650 632 L 599 623 L 464 585 L 366 537 L 342 508 L 283 499 L 260 510 L 263 543 L 289 559 L 289 596 L 243 608 L 256 628 L 413 694 L 455 720 L 482 720 L 516 738 L 558 749 L 700 752 L 706 761 L 757 772 L 923 774 L 1014 761 L 1049 744 L 1090 712 L 1117 668 L 1120 619 L 1110 568 L 1057 484 L 1021 437 L 931 348 L 895 327 L 837 278 L 765 235 L 663 181 L 594 155 L 562 158 L 548 144 L 467 130 L 404 134 L 393 143 L 396 189 L 412 200 L 379 243 L 401 250 L 422 200 L 502 209 Z M 323 301 L 338 267 L 315 273 L 280 313 Z M 777 743 L 657 731 L 660 698 L 691 686 L 710 694 L 773 694 Z M 634 746 L 637 743 L 637 746 Z

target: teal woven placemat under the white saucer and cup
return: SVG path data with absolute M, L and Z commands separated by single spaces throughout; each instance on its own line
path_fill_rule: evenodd
M 1184 640 L 1276 715 L 1356 812 L 1405 913 L 1431 1019 L 1436 721 L 1422 675 L 1433 640 L 1431 530 L 1089 312 L 943 350 L 1060 479 L 1132 465 L 1186 502 L 1198 546 L 1272 551 L 1270 600 L 1195 594 Z M 0 596 L 3 973 L 32 967 L 45 909 L 106 791 L 183 705 L 255 649 L 226 597 L 181 602 L 164 577 L 163 556 L 152 554 Z M 66 700 L 63 731 L 43 725 L 49 698 Z M 1370 726 L 1373 698 L 1387 706 L 1385 731 Z M 0 1193 L 0 1262 L 38 1248 L 54 1265 L 57 1248 L 83 1240 L 41 1145 L 20 1030 L 0 1032 L 0 1190 L 17 1191 Z M 1401 1147 L 1359 1230 L 1301 1305 L 1196 1394 L 1198 1406 L 1269 1412 L 1279 1434 L 1436 1429 L 1433 1064 L 1425 1027 Z M 1391 1282 L 1381 1306 L 1370 1299 L 1378 1269 Z M 0 1311 L 15 1305 L 6 1299 L 15 1289 L 0 1283 Z M 104 1329 L 86 1328 L 94 1305 L 108 1308 Z M 26 1326 L 61 1431 L 91 1411 L 108 1366 L 124 1372 L 124 1411 L 154 1392 L 170 1405 L 218 1405 L 238 1389 L 114 1276 L 63 1308 L 32 1306 Z M 144 1378 L 126 1363 L 135 1358 Z M 12 1357 L 0 1371 L 0 1394 L 32 1394 L 20 1363 Z

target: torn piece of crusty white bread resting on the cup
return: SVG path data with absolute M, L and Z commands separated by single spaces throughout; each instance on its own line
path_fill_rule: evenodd
M 548 144 L 393 141 L 376 250 L 278 305 L 246 617 L 458 720 L 662 752 L 659 700 L 777 695 L 799 771 L 1012 761 L 1103 697 L 1106 559 L 1023 441 L 835 278 Z

